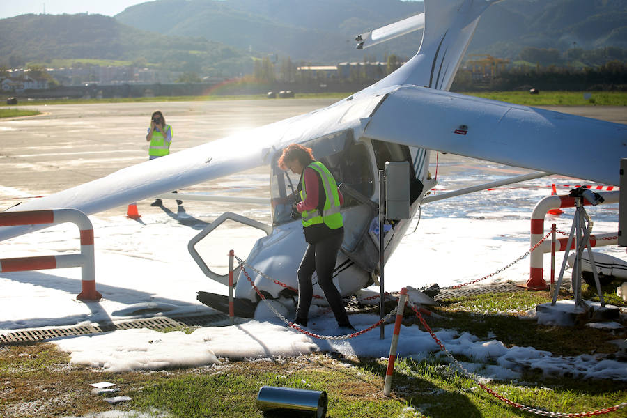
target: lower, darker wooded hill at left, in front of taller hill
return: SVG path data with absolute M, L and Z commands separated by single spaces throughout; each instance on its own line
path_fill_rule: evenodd
M 249 71 L 248 54 L 204 38 L 164 36 L 103 15 L 20 15 L 0 20 L 0 64 L 94 59 L 153 63 L 178 72 Z

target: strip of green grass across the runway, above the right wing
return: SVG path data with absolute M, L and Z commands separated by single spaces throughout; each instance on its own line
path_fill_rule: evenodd
M 499 100 L 525 106 L 627 106 L 627 92 L 624 91 L 491 91 L 486 93 L 464 93 L 478 98 Z M 584 98 L 589 94 L 590 98 Z

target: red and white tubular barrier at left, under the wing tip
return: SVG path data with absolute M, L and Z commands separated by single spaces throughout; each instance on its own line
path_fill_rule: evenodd
M 1 212 L 0 226 L 63 224 L 72 222 L 80 231 L 81 254 L 61 256 L 36 256 L 0 259 L 0 272 L 23 272 L 54 268 L 81 268 L 82 290 L 79 300 L 99 300 L 102 295 L 95 289 L 93 251 L 93 226 L 83 212 L 77 209 L 23 210 Z

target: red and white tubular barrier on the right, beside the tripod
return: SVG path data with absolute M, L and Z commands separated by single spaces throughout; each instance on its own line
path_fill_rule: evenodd
M 618 203 L 619 201 L 619 191 L 603 192 L 600 194 L 603 196 L 603 199 L 605 199 L 603 203 Z M 584 205 L 590 204 L 585 199 L 583 203 Z M 575 206 L 575 198 L 572 196 L 547 196 L 544 199 L 541 199 L 541 201 L 539 201 L 538 203 L 536 203 L 534 211 L 532 212 L 531 219 L 531 236 L 529 239 L 529 241 L 531 242 L 531 246 L 533 247 L 534 245 L 536 245 L 537 242 L 544 237 L 544 218 L 549 210 L 558 208 L 572 208 L 573 206 Z M 616 244 L 617 240 L 606 239 L 610 238 L 612 235 L 615 234 L 600 234 L 596 235 L 596 237 L 594 237 L 594 235 L 591 236 L 590 247 Z M 601 238 L 603 238 L 602 241 Z M 555 250 L 564 251 L 566 249 L 566 241 L 566 238 L 564 238 L 563 240 L 557 240 Z M 531 255 L 529 256 L 530 268 L 529 280 L 527 281 L 528 288 L 540 290 L 547 287 L 546 281 L 544 281 L 543 278 L 543 265 L 544 253 L 550 251 L 550 242 L 545 241 L 541 244 L 541 251 L 532 251 Z

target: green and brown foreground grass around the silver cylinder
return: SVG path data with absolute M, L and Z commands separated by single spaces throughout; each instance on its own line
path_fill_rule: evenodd
M 589 291 L 584 285 L 584 294 Z M 609 341 L 626 338 L 624 333 L 588 327 L 544 327 L 516 316 L 548 302 L 549 297 L 548 292 L 527 291 L 460 297 L 433 309 L 442 318 L 426 320 L 436 333 L 440 329 L 470 332 L 479 338 L 499 339 L 506 346 L 533 346 L 553 355 L 610 355 L 617 347 Z M 411 312 L 406 314 L 406 323 L 415 321 Z M 256 395 L 263 385 L 325 390 L 329 418 L 532 416 L 460 376 L 440 353 L 420 360 L 398 359 L 389 397 L 382 395 L 387 360 L 378 358 L 314 353 L 256 361 L 222 359 L 220 364 L 193 369 L 132 373 L 102 372 L 69 361 L 51 343 L 0 347 L 2 416 L 81 416 L 124 410 L 154 417 L 262 417 Z M 479 366 L 489 365 L 488 361 Z M 481 369 L 477 373 L 481 375 Z M 132 400 L 111 406 L 102 396 L 91 394 L 88 384 L 103 380 L 116 383 L 118 395 Z M 548 378 L 534 370 L 523 371 L 516 381 L 488 382 L 488 387 L 511 401 L 552 412 L 588 412 L 627 401 L 626 382 L 582 380 L 568 374 Z M 624 410 L 605 416 L 624 416 Z

